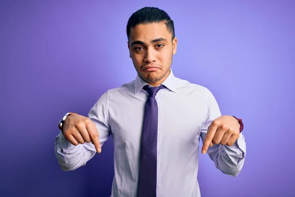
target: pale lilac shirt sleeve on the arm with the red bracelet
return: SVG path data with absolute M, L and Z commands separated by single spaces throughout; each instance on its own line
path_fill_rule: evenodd
M 211 122 L 221 116 L 219 106 L 212 93 L 207 90 L 207 117 L 201 128 L 201 138 L 204 143 L 207 134 L 207 129 Z M 208 148 L 207 154 L 214 162 L 215 166 L 223 173 L 237 176 L 241 171 L 245 156 L 246 143 L 242 133 L 236 140 L 233 146 L 214 144 Z

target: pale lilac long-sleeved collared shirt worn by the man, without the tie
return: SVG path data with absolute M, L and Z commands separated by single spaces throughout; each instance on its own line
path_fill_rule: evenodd
M 172 69 L 155 99 L 158 103 L 157 197 L 201 197 L 197 180 L 199 142 L 210 123 L 221 116 L 211 92 L 174 76 Z M 112 134 L 115 175 L 111 197 L 136 197 L 144 108 L 148 85 L 139 75 L 105 92 L 89 111 L 101 145 Z M 85 165 L 96 153 L 92 143 L 72 145 L 62 133 L 55 151 L 63 170 Z M 209 146 L 207 151 L 223 173 L 236 176 L 244 163 L 246 144 L 240 133 L 233 146 Z

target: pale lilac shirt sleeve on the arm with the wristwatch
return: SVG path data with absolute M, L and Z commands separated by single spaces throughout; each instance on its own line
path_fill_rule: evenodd
M 111 128 L 108 124 L 108 92 L 104 93 L 90 109 L 88 118 L 95 124 L 99 133 L 99 142 L 103 146 L 104 142 L 111 134 Z M 90 143 L 71 144 L 60 131 L 55 138 L 55 154 L 59 165 L 64 171 L 75 170 L 86 163 L 95 155 L 94 145 Z

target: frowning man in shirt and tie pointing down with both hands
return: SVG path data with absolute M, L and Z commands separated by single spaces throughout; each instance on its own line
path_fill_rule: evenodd
M 174 23 L 145 7 L 127 23 L 128 49 L 137 78 L 104 93 L 88 117 L 66 114 L 55 151 L 65 171 L 85 165 L 112 134 L 112 197 L 200 197 L 199 141 L 223 173 L 236 176 L 246 146 L 242 122 L 221 116 L 207 88 L 174 76 Z

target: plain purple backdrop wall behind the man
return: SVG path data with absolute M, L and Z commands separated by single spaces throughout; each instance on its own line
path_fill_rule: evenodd
M 87 115 L 108 89 L 136 77 L 125 27 L 143 6 L 175 21 L 174 74 L 206 86 L 243 119 L 237 177 L 200 155 L 202 197 L 291 197 L 294 176 L 295 1 L 0 2 L 0 196 L 108 197 L 113 142 L 72 172 L 54 154 L 68 111 Z

